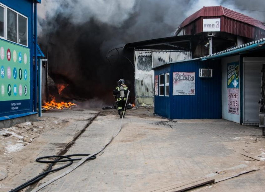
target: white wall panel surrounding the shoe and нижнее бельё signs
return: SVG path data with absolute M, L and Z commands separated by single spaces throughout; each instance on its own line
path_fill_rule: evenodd
M 229 121 L 240 123 L 241 111 L 239 111 L 239 115 L 228 113 L 227 64 L 232 63 L 232 62 L 239 62 L 239 56 L 226 57 L 222 59 L 222 118 L 229 120 Z M 239 90 L 240 89 L 241 89 L 241 85 L 239 84 Z M 240 101 L 239 101 L 239 104 L 240 104 Z

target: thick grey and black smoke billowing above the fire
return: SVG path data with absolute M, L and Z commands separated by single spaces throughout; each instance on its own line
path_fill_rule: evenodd
M 218 5 L 261 10 L 265 1 L 42 0 L 38 5 L 39 42 L 49 52 L 53 77 L 61 75 L 82 89 L 80 97 L 97 97 L 102 90 L 93 92 L 79 86 L 100 84 L 110 91 L 117 79 L 133 73 L 125 60 L 112 60 L 110 67 L 105 59 L 108 50 L 129 42 L 173 36 L 186 17 L 203 6 Z M 232 10 L 265 22 L 265 12 Z

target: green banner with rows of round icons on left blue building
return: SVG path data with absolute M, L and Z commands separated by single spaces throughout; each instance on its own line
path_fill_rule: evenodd
M 0 40 L 0 115 L 30 109 L 30 50 Z

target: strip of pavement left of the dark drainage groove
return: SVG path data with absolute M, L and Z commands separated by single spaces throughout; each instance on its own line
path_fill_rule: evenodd
M 22 150 L 12 153 L 13 166 L 8 168 L 8 177 L 0 181 L 0 192 L 7 192 L 45 170 L 47 164 L 37 163 L 36 158 L 60 154 L 98 113 L 84 109 L 43 113 L 37 123 L 46 129 Z M 49 121 L 63 122 L 63 125 L 52 127 Z

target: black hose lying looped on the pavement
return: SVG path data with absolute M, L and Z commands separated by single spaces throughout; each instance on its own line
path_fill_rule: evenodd
M 39 163 L 51 163 L 49 165 L 49 167 L 48 167 L 48 170 L 42 172 L 38 176 L 32 178 L 31 180 L 28 180 L 27 182 L 25 182 L 22 185 L 16 187 L 15 189 L 12 189 L 9 192 L 18 192 L 18 191 L 26 188 L 27 186 L 32 185 L 33 183 L 38 182 L 42 178 L 46 177 L 46 175 L 48 175 L 49 173 L 55 172 L 55 171 L 58 171 L 58 170 L 61 170 L 61 169 L 64 169 L 65 167 L 68 167 L 68 166 L 72 165 L 73 164 L 73 161 L 79 161 L 79 160 L 82 159 L 82 158 L 72 159 L 71 157 L 73 157 L 73 156 L 89 156 L 89 154 L 73 154 L 73 155 L 65 155 L 65 156 L 63 156 L 63 155 L 54 155 L 54 156 L 39 157 L 39 158 L 36 159 L 37 162 L 39 162 Z M 43 161 L 43 160 L 41 160 L 41 159 L 56 158 L 56 157 L 57 157 L 57 159 L 55 159 L 53 161 Z M 96 158 L 96 156 L 91 156 L 90 158 L 87 159 L 87 161 L 88 160 L 93 160 L 95 158 Z M 65 159 L 65 160 L 62 160 L 62 159 Z M 56 169 L 52 169 L 52 166 L 54 166 L 55 163 L 67 162 L 67 161 L 70 161 L 70 162 L 68 164 L 64 165 L 64 166 L 58 167 Z

